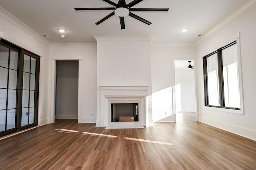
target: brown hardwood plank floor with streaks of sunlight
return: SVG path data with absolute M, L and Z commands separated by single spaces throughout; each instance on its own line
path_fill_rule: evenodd
M 0 141 L 1 170 L 253 170 L 256 141 L 178 113 L 177 123 L 105 129 L 77 120 Z

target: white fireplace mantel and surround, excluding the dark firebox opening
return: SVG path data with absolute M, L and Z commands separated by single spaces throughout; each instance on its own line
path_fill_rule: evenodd
M 148 126 L 147 97 L 148 86 L 101 86 L 101 127 L 139 127 Z M 111 122 L 111 103 L 139 103 L 138 122 Z

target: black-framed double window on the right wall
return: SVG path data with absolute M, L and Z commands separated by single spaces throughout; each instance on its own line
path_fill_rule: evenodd
M 240 110 L 237 43 L 203 57 L 205 106 Z

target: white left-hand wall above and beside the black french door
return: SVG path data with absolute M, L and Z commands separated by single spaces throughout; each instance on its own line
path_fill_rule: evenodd
M 38 125 L 48 123 L 49 45 L 43 37 L 0 8 L 0 37 L 40 57 Z

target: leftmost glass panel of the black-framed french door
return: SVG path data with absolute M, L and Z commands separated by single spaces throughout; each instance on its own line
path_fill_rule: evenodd
M 16 131 L 18 52 L 0 45 L 0 136 Z

